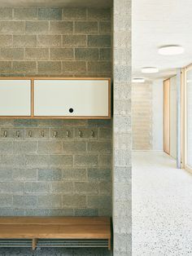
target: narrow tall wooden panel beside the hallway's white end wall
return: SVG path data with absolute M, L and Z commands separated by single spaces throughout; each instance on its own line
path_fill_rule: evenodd
M 164 152 L 170 153 L 170 79 L 164 81 Z

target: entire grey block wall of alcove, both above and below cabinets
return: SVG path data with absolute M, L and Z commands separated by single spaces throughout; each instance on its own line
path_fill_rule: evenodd
M 110 77 L 110 19 L 110 9 L 0 9 L 0 74 Z M 111 121 L 0 120 L 0 215 L 111 215 Z

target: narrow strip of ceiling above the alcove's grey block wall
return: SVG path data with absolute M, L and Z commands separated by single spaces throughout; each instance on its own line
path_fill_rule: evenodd
M 112 0 L 0 0 L 0 7 L 112 7 Z

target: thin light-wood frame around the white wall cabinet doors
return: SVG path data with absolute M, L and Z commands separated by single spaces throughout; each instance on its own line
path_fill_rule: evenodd
M 0 77 L 1 80 L 31 81 L 31 116 L 0 116 L 0 119 L 110 119 L 111 118 L 111 78 L 107 77 Z M 35 80 L 106 80 L 108 81 L 108 116 L 34 116 Z

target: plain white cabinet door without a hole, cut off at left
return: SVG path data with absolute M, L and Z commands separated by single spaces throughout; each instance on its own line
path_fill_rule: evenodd
M 0 116 L 31 116 L 31 80 L 0 80 Z

